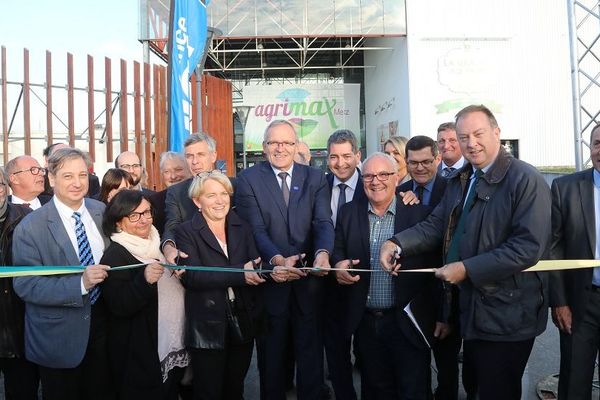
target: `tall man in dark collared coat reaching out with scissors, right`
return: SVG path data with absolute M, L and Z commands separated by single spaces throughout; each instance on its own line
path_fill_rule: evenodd
M 546 275 L 521 273 L 546 253 L 550 190 L 535 168 L 500 144 L 500 128 L 483 105 L 456 115 L 469 164 L 450 175 L 440 204 L 423 221 L 381 248 L 392 274 L 396 261 L 444 245 L 436 276 L 458 284 L 465 362 L 481 399 L 518 399 L 535 337 L 546 327 Z M 400 256 L 399 256 L 400 255 Z

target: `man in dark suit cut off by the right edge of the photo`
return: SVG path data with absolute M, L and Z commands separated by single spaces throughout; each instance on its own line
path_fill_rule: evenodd
M 552 182 L 553 259 L 600 258 L 600 125 L 592 129 L 593 168 Z M 560 330 L 560 399 L 591 399 L 600 343 L 600 269 L 550 274 L 552 318 Z

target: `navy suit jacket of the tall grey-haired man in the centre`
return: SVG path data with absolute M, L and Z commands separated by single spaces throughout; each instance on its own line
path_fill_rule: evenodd
M 331 254 L 331 199 L 323 172 L 294 163 L 287 207 L 277 180 L 269 162 L 250 167 L 237 178 L 236 209 L 252 226 L 263 261 L 268 263 L 278 254 L 306 253 L 311 265 L 315 251 Z M 315 312 L 321 285 L 321 278 L 313 275 L 293 282 L 269 282 L 265 286 L 267 311 L 279 315 L 287 310 L 293 292 L 303 312 Z

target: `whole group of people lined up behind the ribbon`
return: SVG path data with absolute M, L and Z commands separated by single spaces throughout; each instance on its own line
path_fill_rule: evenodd
M 0 279 L 7 398 L 41 382 L 50 400 L 238 400 L 256 345 L 265 400 L 286 398 L 290 360 L 299 400 L 323 398 L 326 376 L 340 400 L 457 399 L 461 347 L 469 399 L 519 399 L 549 302 L 560 396 L 590 398 L 600 273 L 521 271 L 600 257 L 600 126 L 591 144 L 594 168 L 552 195 L 480 105 L 437 141 L 391 137 L 362 162 L 338 130 L 328 174 L 283 120 L 235 179 L 192 134 L 161 156 L 159 192 L 133 152 L 101 183 L 66 145 L 44 167 L 16 157 L 0 173 L 1 264 L 82 272 Z

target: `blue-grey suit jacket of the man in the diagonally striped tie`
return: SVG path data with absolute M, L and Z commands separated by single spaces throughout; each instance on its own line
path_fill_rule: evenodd
M 104 204 L 86 198 L 85 206 L 102 232 Z M 106 248 L 107 238 L 104 244 Z M 54 201 L 21 221 L 12 249 L 15 265 L 80 265 Z M 88 296 L 81 295 L 81 274 L 19 277 L 14 288 L 25 301 L 27 359 L 49 368 L 78 366 L 87 348 L 91 318 Z

